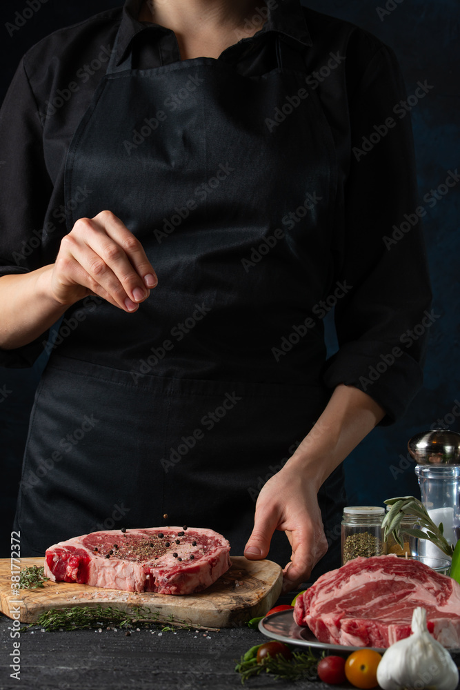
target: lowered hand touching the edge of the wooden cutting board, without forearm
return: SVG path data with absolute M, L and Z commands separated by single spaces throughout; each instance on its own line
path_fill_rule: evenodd
M 274 530 L 285 531 L 292 547 L 291 560 L 283 569 L 285 592 L 308 581 L 312 568 L 328 550 L 318 488 L 314 477 L 287 462 L 264 484 L 257 498 L 254 529 L 244 555 L 252 560 L 266 558 Z

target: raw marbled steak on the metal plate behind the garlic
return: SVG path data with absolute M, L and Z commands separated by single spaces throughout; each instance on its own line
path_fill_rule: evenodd
M 460 584 L 397 555 L 354 558 L 321 575 L 297 598 L 294 620 L 320 642 L 386 648 L 410 635 L 417 607 L 434 638 L 460 647 Z

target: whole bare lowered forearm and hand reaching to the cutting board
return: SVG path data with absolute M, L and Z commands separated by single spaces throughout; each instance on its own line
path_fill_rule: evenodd
M 383 408 L 366 393 L 340 384 L 310 433 L 262 487 L 244 555 L 267 558 L 275 529 L 284 531 L 292 549 L 291 560 L 283 569 L 284 591 L 306 582 L 328 550 L 319 487 L 384 415 Z

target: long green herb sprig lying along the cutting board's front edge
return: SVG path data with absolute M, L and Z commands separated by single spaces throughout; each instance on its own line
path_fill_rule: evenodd
M 161 627 L 161 631 L 177 629 L 185 630 L 212 630 L 218 628 L 201 627 L 192 625 L 174 618 L 170 613 L 166 617 L 158 611 L 150 611 L 148 607 L 138 604 L 132 606 L 131 611 L 120 611 L 114 607 L 103 607 L 101 604 L 86 607 L 65 607 L 63 609 L 50 609 L 41 613 L 34 623 L 23 628 L 26 630 L 33 626 L 39 626 L 46 631 L 52 630 L 82 630 L 86 628 L 99 628 L 101 626 L 116 626 L 118 628 L 132 627 L 136 623 L 154 624 Z

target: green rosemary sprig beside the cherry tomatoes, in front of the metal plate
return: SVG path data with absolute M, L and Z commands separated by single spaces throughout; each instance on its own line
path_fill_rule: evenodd
M 252 648 L 254 649 L 254 648 Z M 321 655 L 321 658 L 325 652 Z M 248 653 L 241 657 L 235 671 L 241 675 L 241 683 L 251 678 L 259 676 L 259 673 L 266 671 L 272 673 L 274 678 L 286 678 L 287 680 L 317 680 L 317 667 L 319 659 L 314 655 L 310 647 L 307 652 L 292 651 L 292 659 L 285 659 L 281 655 L 275 657 L 266 656 L 261 662 L 257 662 L 255 655 L 245 658 Z

